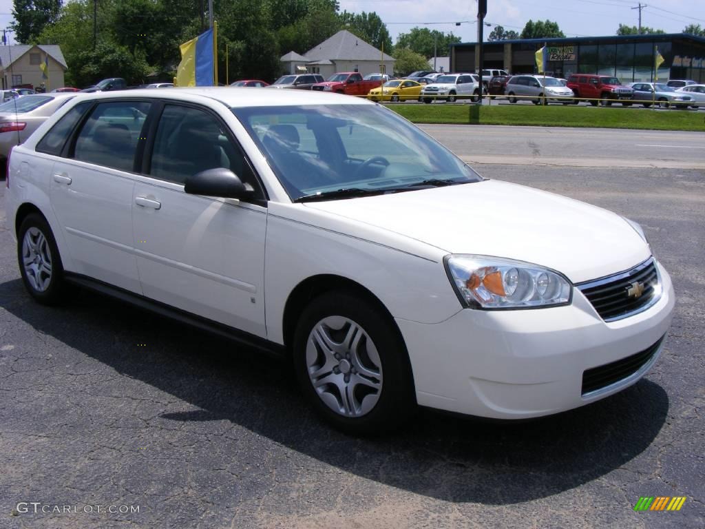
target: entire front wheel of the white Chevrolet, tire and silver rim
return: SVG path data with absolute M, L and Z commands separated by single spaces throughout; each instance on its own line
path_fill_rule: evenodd
M 390 430 L 415 407 L 398 329 L 388 314 L 354 293 L 325 293 L 305 308 L 293 361 L 316 411 L 345 432 Z

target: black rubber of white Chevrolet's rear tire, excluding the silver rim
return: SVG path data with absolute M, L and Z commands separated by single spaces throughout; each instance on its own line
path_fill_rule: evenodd
M 40 233 L 46 241 L 46 245 L 42 245 L 44 248 L 37 252 L 37 255 L 40 255 L 39 262 L 48 263 L 51 269 L 51 274 L 48 277 L 46 272 L 38 272 L 39 280 L 42 281 L 42 283 L 47 281 L 43 290 L 35 286 L 37 281 L 30 279 L 24 265 L 24 250 L 26 250 L 24 246 L 25 236 L 27 236 L 27 232 L 30 230 L 35 233 L 35 236 L 32 236 L 32 233 L 30 233 L 29 236 L 35 243 L 37 242 L 37 233 Z M 56 246 L 54 233 L 51 232 L 49 224 L 42 215 L 31 213 L 22 221 L 17 236 L 17 260 L 20 267 L 20 274 L 22 275 L 22 281 L 32 298 L 35 298 L 35 300 L 42 303 L 42 305 L 56 305 L 61 302 L 65 291 L 61 255 L 59 255 L 59 248 Z

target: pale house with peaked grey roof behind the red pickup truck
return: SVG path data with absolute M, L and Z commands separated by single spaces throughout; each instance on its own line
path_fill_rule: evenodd
M 338 72 L 393 73 L 395 61 L 348 30 L 338 31 L 303 55 L 290 51 L 279 60 L 286 73 L 320 73 L 324 78 Z

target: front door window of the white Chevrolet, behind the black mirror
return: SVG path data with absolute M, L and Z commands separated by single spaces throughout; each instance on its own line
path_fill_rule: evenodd
M 165 105 L 154 138 L 149 176 L 183 184 L 186 178 L 201 171 L 224 167 L 257 190 L 257 197 L 262 197 L 245 155 L 223 129 L 206 111 Z

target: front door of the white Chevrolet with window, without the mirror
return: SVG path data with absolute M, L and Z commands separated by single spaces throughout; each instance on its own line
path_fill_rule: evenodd
M 137 178 L 132 196 L 145 296 L 266 336 L 266 205 L 239 145 L 211 111 L 177 104 L 164 106 L 152 145 L 149 175 Z M 253 201 L 184 192 L 186 178 L 214 167 L 250 183 Z

